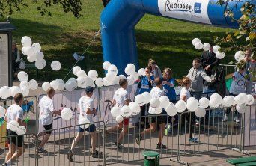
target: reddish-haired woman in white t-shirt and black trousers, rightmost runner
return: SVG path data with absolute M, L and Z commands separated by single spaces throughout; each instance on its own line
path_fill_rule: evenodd
M 183 79 L 177 79 L 177 82 L 182 86 L 180 90 L 180 100 L 187 101 L 191 94 L 189 92 L 189 87 L 191 86 L 191 80 L 188 77 L 183 77 Z M 181 117 L 180 117 L 181 118 Z M 198 138 L 193 137 L 193 131 L 195 128 L 195 113 L 186 113 L 186 120 L 189 121 L 189 142 L 198 142 Z

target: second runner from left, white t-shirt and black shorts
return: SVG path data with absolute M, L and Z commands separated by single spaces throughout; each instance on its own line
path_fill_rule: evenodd
M 37 147 L 38 153 L 43 153 L 43 146 L 46 144 L 52 134 L 52 114 L 61 114 L 61 111 L 56 111 L 53 106 L 52 98 L 55 95 L 55 90 L 50 87 L 48 90 L 46 90 L 46 93 L 47 96 L 43 96 L 38 104 L 40 108 L 39 119 L 43 125 L 43 128 L 45 129 L 45 132 L 40 132 L 38 135 L 38 137 L 43 136 L 43 140 Z

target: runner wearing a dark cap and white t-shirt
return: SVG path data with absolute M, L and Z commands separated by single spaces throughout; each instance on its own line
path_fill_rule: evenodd
M 91 156 L 95 158 L 100 158 L 103 156 L 103 153 L 100 153 L 96 150 L 96 141 L 97 141 L 97 134 L 96 134 L 96 126 L 94 124 L 93 116 L 97 114 L 96 109 L 94 108 L 94 99 L 92 98 L 94 92 L 94 87 L 86 87 L 85 88 L 85 96 L 82 96 L 79 99 L 78 103 L 78 110 L 80 111 L 79 120 L 81 118 L 86 117 L 90 125 L 86 129 L 82 129 L 81 126 L 79 126 L 76 138 L 74 138 L 70 151 L 67 153 L 67 159 L 70 160 L 70 162 L 73 162 L 73 149 L 76 147 L 76 144 L 79 142 L 79 140 L 82 138 L 83 133 L 85 131 L 90 133 L 91 136 L 91 147 L 92 152 Z

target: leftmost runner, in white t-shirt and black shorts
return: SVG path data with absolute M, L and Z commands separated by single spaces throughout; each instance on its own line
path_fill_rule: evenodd
M 23 110 L 21 108 L 21 105 L 23 103 L 23 95 L 21 93 L 17 93 L 14 96 L 14 102 L 15 104 L 10 105 L 10 107 L 7 109 L 4 120 L 7 122 L 7 126 L 13 120 L 18 122 L 19 126 L 20 125 L 26 126 L 26 123 L 22 121 Z M 4 165 L 7 165 L 7 166 L 12 165 L 13 162 L 17 160 L 19 156 L 21 156 L 22 153 L 24 153 L 25 151 L 25 147 L 23 147 L 23 144 L 24 144 L 23 135 L 19 135 L 16 137 L 13 137 L 12 135 L 17 135 L 17 133 L 10 129 L 7 129 L 6 136 L 7 136 L 9 151 L 7 153 L 7 156 L 5 157 L 5 162 L 4 162 Z

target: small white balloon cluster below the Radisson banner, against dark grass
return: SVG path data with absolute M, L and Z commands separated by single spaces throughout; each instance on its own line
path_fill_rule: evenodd
M 192 40 L 193 46 L 195 46 L 195 49 L 204 49 L 204 51 L 209 51 L 210 50 L 210 44 L 209 43 L 201 43 L 201 40 L 198 38 L 195 38 Z M 220 46 L 216 45 L 213 46 L 213 52 L 216 54 L 216 58 L 222 59 L 225 57 L 225 52 L 220 52 L 219 51 Z

